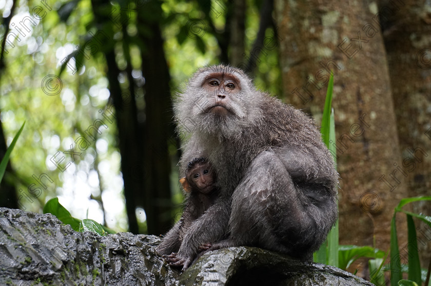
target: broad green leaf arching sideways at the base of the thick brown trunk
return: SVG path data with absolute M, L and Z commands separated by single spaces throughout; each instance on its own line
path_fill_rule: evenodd
M 338 268 L 346 270 L 351 263 L 361 257 L 384 258 L 386 253 L 370 246 L 340 245 L 338 251 Z

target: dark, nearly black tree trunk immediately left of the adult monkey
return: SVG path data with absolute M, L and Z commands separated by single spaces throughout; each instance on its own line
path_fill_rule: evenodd
M 170 76 L 159 21 L 159 2 L 148 2 L 138 12 L 142 73 L 145 78 L 145 128 L 143 152 L 145 180 L 143 196 L 149 234 L 163 234 L 172 226 L 170 157 L 168 141 L 174 143 Z

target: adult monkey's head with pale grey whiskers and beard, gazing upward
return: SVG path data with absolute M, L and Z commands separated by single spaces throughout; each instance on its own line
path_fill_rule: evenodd
M 240 69 L 215 65 L 199 70 L 175 100 L 178 125 L 219 139 L 237 137 L 262 118 L 263 93 Z

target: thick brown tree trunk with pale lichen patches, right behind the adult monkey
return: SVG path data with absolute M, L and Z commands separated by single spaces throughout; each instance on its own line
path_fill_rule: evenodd
M 276 1 L 284 98 L 320 125 L 330 70 L 334 76 L 340 243 L 387 250 L 401 179 L 394 103 L 377 5 L 367 1 Z M 406 226 L 399 224 L 399 242 Z

